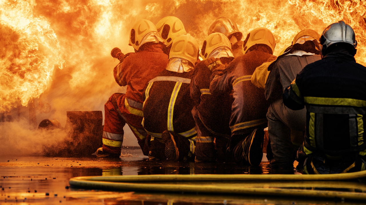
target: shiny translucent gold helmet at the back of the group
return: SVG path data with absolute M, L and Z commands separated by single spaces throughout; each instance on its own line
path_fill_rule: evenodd
M 239 31 L 236 23 L 225 16 L 219 17 L 211 24 L 207 35 L 213 34 L 215 32 L 224 34 L 226 37 L 228 37 L 228 39 L 231 39 L 232 36 L 235 36 L 236 40 L 238 41 L 243 37 L 243 34 Z

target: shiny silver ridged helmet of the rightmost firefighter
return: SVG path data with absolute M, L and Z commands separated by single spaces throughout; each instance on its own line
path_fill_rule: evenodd
M 356 48 L 357 41 L 355 38 L 355 32 L 350 25 L 344 23 L 343 21 L 332 23 L 325 28 L 320 37 L 322 54 L 324 55 L 326 53 L 325 51 L 330 45 L 340 42 L 348 43 Z

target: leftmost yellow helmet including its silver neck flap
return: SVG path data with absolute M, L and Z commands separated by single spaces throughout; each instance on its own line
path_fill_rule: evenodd
M 149 20 L 142 19 L 135 23 L 130 32 L 128 45 L 138 50 L 139 47 L 147 42 L 163 42 L 155 25 Z

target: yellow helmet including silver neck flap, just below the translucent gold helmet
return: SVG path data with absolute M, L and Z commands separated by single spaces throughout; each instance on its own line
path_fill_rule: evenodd
M 203 60 L 210 57 L 234 57 L 229 39 L 221 33 L 213 33 L 203 41 L 200 56 Z

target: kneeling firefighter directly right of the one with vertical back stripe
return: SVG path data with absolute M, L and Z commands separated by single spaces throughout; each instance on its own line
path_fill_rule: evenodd
M 224 64 L 234 59 L 229 39 L 221 33 L 213 33 L 203 41 L 201 58 L 220 58 Z M 192 115 L 196 122 L 197 142 L 195 161 L 223 161 L 226 144 L 231 135 L 229 120 L 231 104 L 234 100 L 231 92 L 220 97 L 210 93 L 210 76 L 212 66 L 207 67 L 203 61 L 194 67 L 191 81 L 191 97 L 195 103 Z

